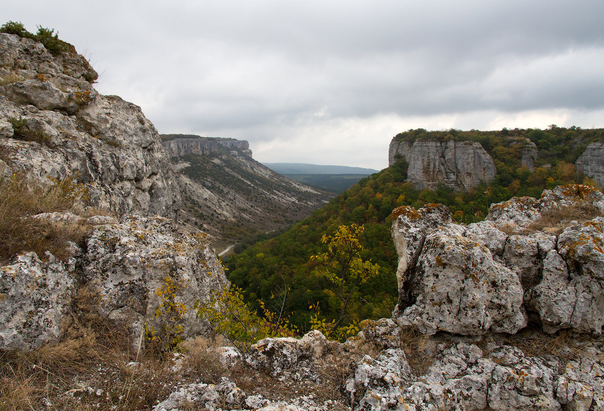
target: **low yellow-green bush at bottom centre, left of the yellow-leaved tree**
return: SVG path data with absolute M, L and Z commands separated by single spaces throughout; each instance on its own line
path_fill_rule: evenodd
M 214 332 L 222 334 L 239 351 L 246 352 L 255 342 L 268 337 L 292 336 L 295 327 L 288 319 L 275 314 L 260 301 L 264 316 L 260 316 L 243 299 L 241 288 L 236 285 L 222 290 L 212 290 L 207 301 L 195 304 L 199 317 L 214 327 Z

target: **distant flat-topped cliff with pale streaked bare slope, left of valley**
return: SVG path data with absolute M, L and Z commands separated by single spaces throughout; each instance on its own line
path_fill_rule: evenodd
M 332 197 L 255 161 L 247 142 L 224 142 L 231 144 L 172 158 L 184 197 L 181 225 L 213 235 L 218 249 L 291 225 Z

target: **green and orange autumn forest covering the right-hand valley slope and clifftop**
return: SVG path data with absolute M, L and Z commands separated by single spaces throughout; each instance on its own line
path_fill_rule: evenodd
M 417 134 L 422 133 L 420 130 Z M 307 331 L 313 315 L 309 302 L 320 308 L 328 321 L 337 319 L 342 301 L 335 297 L 332 284 L 313 275 L 316 261 L 310 257 L 323 252 L 323 235 L 332 234 L 340 225 L 364 225 L 364 232 L 359 237 L 364 246 L 362 257 L 379 264 L 380 271 L 354 291 L 355 302 L 350 307 L 347 322 L 390 316 L 397 300 L 397 255 L 390 237 L 394 208 L 443 203 L 451 209 L 455 220 L 472 223 L 486 216 L 488 205 L 513 196 L 539 198 L 543 190 L 557 185 L 594 185 L 593 180 L 577 173 L 573 162 L 582 152 L 577 147 L 584 149 L 587 142 L 603 139 L 604 130 L 551 126 L 548 130 L 472 130 L 457 135 L 458 138 L 480 140 L 497 167 L 495 179 L 467 192 L 455 191 L 445 185 L 437 190 L 416 190 L 411 183 L 405 182 L 406 164 L 399 161 L 359 180 L 289 231 L 254 246 L 242 244 L 236 249 L 239 253 L 228 261 L 230 280 L 245 290 L 250 303 L 258 299 L 269 301 L 275 284 L 286 284 L 289 290 L 286 306 L 291 313 L 291 322 L 301 331 Z M 526 144 L 525 138 L 535 142 L 539 150 L 534 172 L 521 167 L 520 153 Z

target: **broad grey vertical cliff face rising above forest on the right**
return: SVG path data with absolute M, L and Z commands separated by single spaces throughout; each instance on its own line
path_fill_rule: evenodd
M 416 188 L 435 189 L 439 183 L 456 190 L 489 182 L 495 177 L 493 159 L 474 141 L 437 141 L 420 138 L 411 144 L 393 139 L 388 152 L 388 164 L 404 158 L 408 164 L 407 180 Z

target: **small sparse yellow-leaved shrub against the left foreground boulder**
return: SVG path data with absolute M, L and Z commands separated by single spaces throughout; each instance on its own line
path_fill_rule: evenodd
M 153 320 L 161 323 L 161 326 L 156 329 L 153 325 L 146 324 L 145 337 L 158 352 L 172 352 L 183 342 L 182 323 L 188 307 L 176 299 L 183 288 L 187 288 L 187 284 L 166 277 L 155 292 L 161 302 L 155 309 Z

